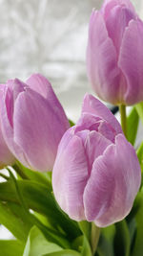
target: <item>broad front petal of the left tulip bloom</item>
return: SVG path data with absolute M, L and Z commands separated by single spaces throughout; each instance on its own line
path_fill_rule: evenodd
M 57 146 L 66 131 L 52 107 L 30 88 L 19 94 L 14 105 L 13 140 L 25 152 L 32 169 L 39 171 L 51 171 Z

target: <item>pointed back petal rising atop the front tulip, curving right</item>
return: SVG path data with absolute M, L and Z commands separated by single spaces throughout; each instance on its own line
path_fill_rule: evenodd
M 96 117 L 104 119 L 114 128 L 117 133 L 122 133 L 122 128 L 110 109 L 90 94 L 86 94 L 82 105 L 82 113 L 90 113 Z

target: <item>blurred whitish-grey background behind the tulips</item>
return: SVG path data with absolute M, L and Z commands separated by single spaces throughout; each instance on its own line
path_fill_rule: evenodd
M 68 117 L 76 121 L 84 94 L 92 92 L 86 75 L 86 45 L 92 8 L 99 0 L 0 0 L 0 82 L 26 80 L 40 72 L 52 86 Z M 143 1 L 133 0 L 143 17 Z M 0 227 L 0 239 L 10 238 Z

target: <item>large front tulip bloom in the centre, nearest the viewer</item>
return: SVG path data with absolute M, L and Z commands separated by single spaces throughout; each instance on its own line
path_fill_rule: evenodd
M 110 225 L 129 214 L 140 180 L 137 156 L 119 123 L 86 95 L 81 118 L 61 139 L 52 170 L 60 207 L 75 221 Z

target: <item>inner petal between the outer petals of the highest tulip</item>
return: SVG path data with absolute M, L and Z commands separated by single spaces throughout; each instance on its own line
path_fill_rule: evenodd
M 115 6 L 106 20 L 108 34 L 112 39 L 117 55 L 120 51 L 124 31 L 128 27 L 130 20 L 135 18 L 136 15 L 130 9 L 123 6 Z

